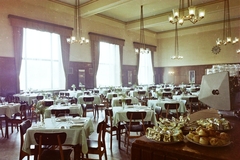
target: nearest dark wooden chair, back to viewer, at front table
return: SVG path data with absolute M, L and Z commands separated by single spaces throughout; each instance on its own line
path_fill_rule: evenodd
M 34 138 L 38 144 L 39 160 L 70 160 L 70 154 L 72 149 L 62 148 L 62 144 L 65 142 L 67 134 L 65 132 L 60 133 L 35 133 Z M 42 149 L 42 145 L 58 146 L 59 150 Z M 42 151 L 43 150 L 43 151 Z

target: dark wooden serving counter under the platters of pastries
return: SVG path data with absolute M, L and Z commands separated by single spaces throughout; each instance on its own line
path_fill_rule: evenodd
M 136 139 L 132 144 L 132 160 L 237 160 L 240 159 L 240 119 L 225 117 L 233 126 L 226 131 L 232 143 L 224 147 L 206 147 L 187 140 L 173 144 L 164 144 L 148 139 L 146 136 Z

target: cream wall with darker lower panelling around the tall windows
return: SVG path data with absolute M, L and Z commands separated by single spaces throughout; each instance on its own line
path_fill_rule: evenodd
M 16 82 L 13 54 L 12 28 L 7 18 L 8 14 L 18 15 L 26 18 L 41 20 L 58 25 L 73 27 L 74 10 L 68 6 L 62 6 L 48 0 L 3 0 L 0 1 L 0 88 L 1 92 L 14 92 Z M 112 37 L 125 39 L 123 47 L 123 85 L 127 84 L 127 71 L 136 70 L 136 57 L 134 53 L 133 42 L 139 42 L 139 31 L 129 31 L 125 29 L 124 23 L 103 19 L 99 16 L 83 18 L 83 35 L 88 38 L 88 32 L 105 34 Z M 222 35 L 221 30 L 215 30 L 215 25 L 194 27 L 190 29 L 179 28 L 179 49 L 180 54 L 184 56 L 183 60 L 171 60 L 170 57 L 174 51 L 174 32 L 161 34 L 145 33 L 146 43 L 157 46 L 157 52 L 154 53 L 155 82 L 156 83 L 187 83 L 188 71 L 195 70 L 197 83 L 200 83 L 201 76 L 204 74 L 205 65 L 219 63 L 238 63 L 239 54 L 235 50 L 240 48 L 240 44 L 228 45 L 222 47 L 218 55 L 211 53 L 211 48 L 215 45 L 215 40 Z M 240 37 L 239 21 L 232 24 L 232 35 Z M 219 27 L 218 27 L 219 28 Z M 73 31 L 74 33 L 74 31 Z M 70 35 L 69 35 L 70 36 Z M 84 68 L 88 70 L 91 66 L 90 44 L 71 45 L 70 48 L 70 67 L 73 67 L 73 73 L 69 74 L 69 84 L 76 83 L 76 71 Z M 86 66 L 85 66 L 86 65 Z M 5 67 L 7 66 L 7 67 Z M 198 66 L 203 66 L 199 69 Z M 178 68 L 180 67 L 180 68 Z M 210 67 L 209 67 L 210 68 Z M 168 75 L 168 70 L 174 70 L 174 79 Z M 10 71 L 10 72 L 9 72 Z M 136 73 L 136 72 L 133 72 Z M 134 75 L 133 75 L 134 76 Z M 89 87 L 92 85 L 92 75 L 87 75 Z M 173 78 L 173 77 L 172 77 Z M 10 79 L 11 81 L 8 81 Z M 133 78 L 133 83 L 136 77 Z

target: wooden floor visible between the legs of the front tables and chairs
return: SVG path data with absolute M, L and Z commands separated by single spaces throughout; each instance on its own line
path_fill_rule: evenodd
M 96 126 L 98 122 L 104 119 L 104 111 L 100 111 L 99 118 L 94 120 L 92 114 L 89 112 L 87 113 L 88 117 L 91 117 L 94 122 L 94 127 L 96 130 Z M 5 129 L 5 128 L 3 128 Z M 11 129 L 9 128 L 9 131 Z M 94 132 L 90 138 L 97 138 L 97 133 Z M 1 136 L 1 134 L 0 134 Z M 122 137 L 123 139 L 123 137 Z M 109 134 L 106 134 L 106 147 L 107 147 L 107 159 L 108 160 L 128 160 L 130 159 L 130 153 L 126 154 L 126 147 L 124 147 L 124 144 L 121 143 L 121 150 L 118 149 L 118 141 L 116 140 L 116 137 L 113 137 L 113 147 L 112 150 L 110 150 L 110 137 Z M 12 134 L 10 134 L 9 139 L 0 138 L 0 160 L 18 160 L 19 159 L 19 149 L 20 149 L 20 133 L 17 132 L 15 129 Z M 89 155 L 89 158 L 98 159 L 95 155 Z M 33 159 L 31 157 L 30 159 Z M 71 157 L 73 159 L 73 156 Z M 103 156 L 102 159 L 105 159 Z M 24 160 L 27 160 L 25 157 Z

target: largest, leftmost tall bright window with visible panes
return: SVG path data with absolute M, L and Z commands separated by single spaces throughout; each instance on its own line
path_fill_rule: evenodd
M 24 28 L 20 90 L 65 89 L 60 35 Z

